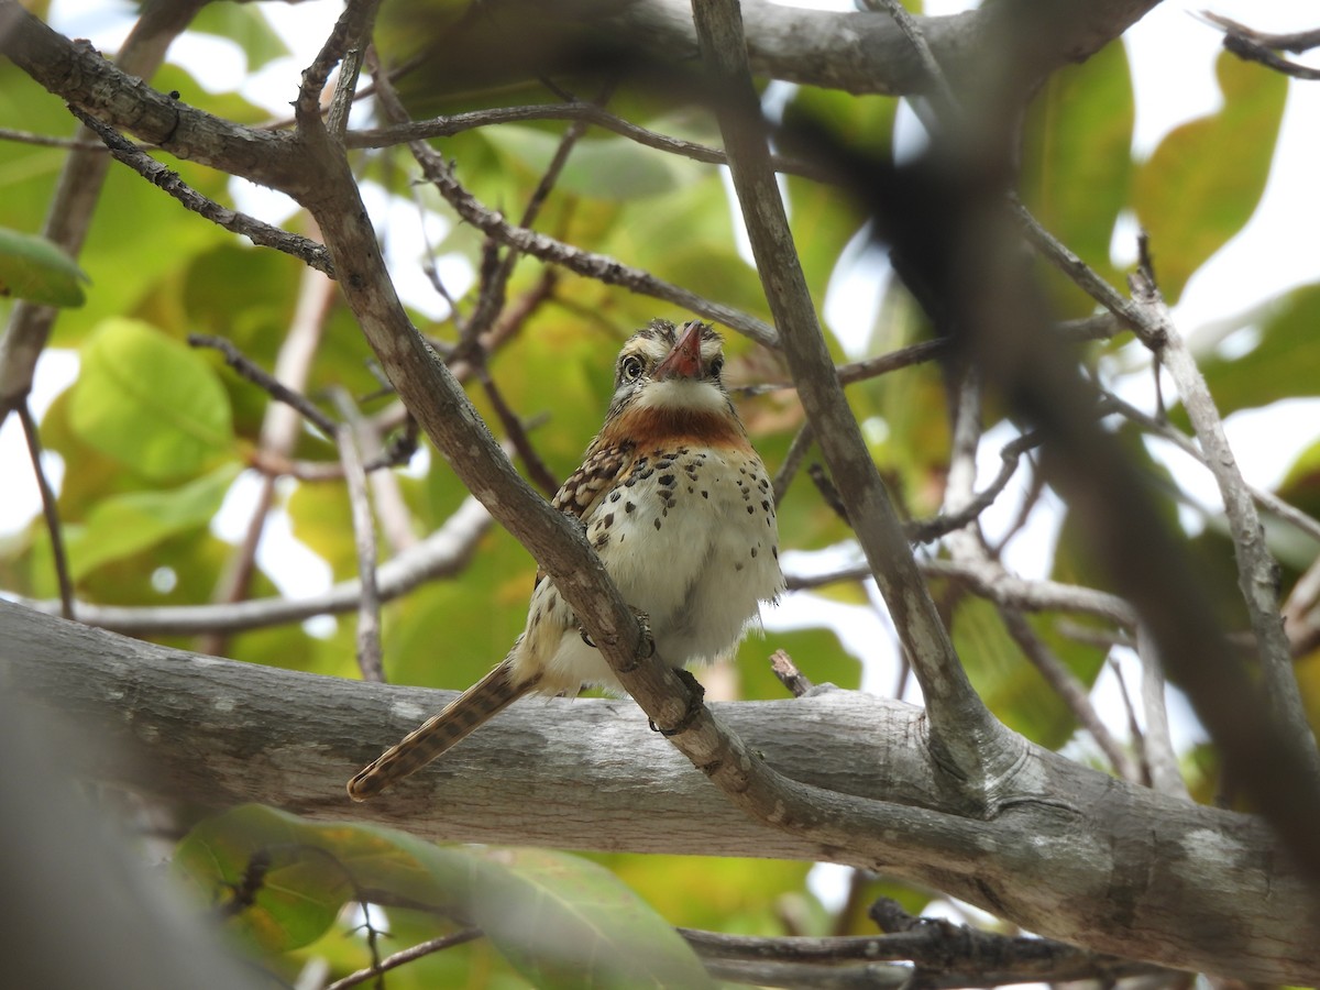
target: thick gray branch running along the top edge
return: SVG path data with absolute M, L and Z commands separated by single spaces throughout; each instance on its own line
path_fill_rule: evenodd
M 1034 25 L 1057 17 L 1063 29 L 1027 28 L 1024 74 L 1036 79 L 1080 62 L 1117 38 L 1159 0 L 1008 0 L 953 17 L 916 18 L 941 66 L 975 65 L 1005 24 Z M 743 0 L 751 69 L 760 77 L 846 90 L 904 95 L 924 92 L 929 77 L 903 32 L 887 13 L 809 11 Z M 1022 32 L 1019 32 L 1022 33 Z M 465 18 L 436 40 L 437 62 L 428 83 L 470 87 L 474 78 L 529 78 L 581 69 L 583 45 L 618 45 L 660 65 L 697 58 L 697 34 L 688 0 L 484 0 L 480 16 Z M 599 51 L 599 48 L 587 49 Z M 627 53 L 618 53 L 620 61 Z M 503 73 L 500 71 L 503 70 Z

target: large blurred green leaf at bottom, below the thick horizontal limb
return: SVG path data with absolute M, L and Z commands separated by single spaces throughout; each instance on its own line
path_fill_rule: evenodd
M 259 805 L 194 828 L 174 869 L 251 942 L 286 952 L 367 892 L 470 917 L 537 987 L 710 987 L 688 944 L 611 873 L 543 850 L 438 849 Z

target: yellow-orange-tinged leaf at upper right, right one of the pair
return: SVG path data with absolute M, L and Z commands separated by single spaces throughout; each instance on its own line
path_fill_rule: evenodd
M 1229 53 L 1217 63 L 1224 107 L 1175 128 L 1140 165 L 1134 205 L 1151 235 L 1168 302 L 1255 213 L 1274 160 L 1288 82 Z

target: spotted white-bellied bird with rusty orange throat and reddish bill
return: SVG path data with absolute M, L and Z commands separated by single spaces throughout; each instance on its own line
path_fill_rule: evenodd
M 652 319 L 623 345 L 605 424 L 552 504 L 576 516 L 656 655 L 718 659 L 784 590 L 775 496 L 702 321 Z M 528 693 L 622 690 L 554 582 L 539 572 L 508 656 L 348 781 L 364 801 L 414 774 Z

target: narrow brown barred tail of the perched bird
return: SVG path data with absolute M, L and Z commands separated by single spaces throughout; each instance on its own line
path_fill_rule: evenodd
M 491 715 L 527 694 L 537 680 L 515 680 L 513 667 L 506 660 L 449 702 L 438 715 L 363 767 L 348 781 L 348 797 L 366 801 L 409 774 L 416 774 Z

